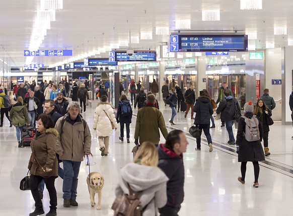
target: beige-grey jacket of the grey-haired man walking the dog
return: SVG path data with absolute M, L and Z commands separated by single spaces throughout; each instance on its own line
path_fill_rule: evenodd
M 61 128 L 63 118 L 65 121 Z M 76 121 L 71 120 L 69 114 L 63 118 L 59 118 L 55 125 L 59 133 L 56 138 L 56 153 L 61 160 L 83 161 L 84 153 L 91 152 L 92 136 L 89 125 L 86 123 L 84 127 L 85 120 L 81 115 L 78 115 Z

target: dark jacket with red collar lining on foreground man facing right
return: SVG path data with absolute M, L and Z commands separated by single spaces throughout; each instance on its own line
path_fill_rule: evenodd
M 167 182 L 167 206 L 179 207 L 184 199 L 184 165 L 183 155 L 177 155 L 174 151 L 160 144 L 158 167 L 169 178 Z

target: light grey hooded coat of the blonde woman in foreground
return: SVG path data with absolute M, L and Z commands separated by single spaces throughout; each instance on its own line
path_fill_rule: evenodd
M 142 216 L 158 215 L 157 208 L 162 208 L 167 202 L 166 183 L 168 178 L 159 169 L 129 163 L 120 170 L 115 195 L 129 194 L 127 183 L 133 191 L 142 191 L 139 196 L 141 207 L 145 210 Z

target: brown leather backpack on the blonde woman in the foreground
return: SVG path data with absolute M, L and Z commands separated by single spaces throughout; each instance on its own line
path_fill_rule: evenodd
M 145 208 L 141 208 L 138 198 L 141 191 L 134 194 L 128 183 L 127 185 L 129 194 L 117 196 L 112 204 L 111 208 L 114 210 L 114 216 L 141 216 Z

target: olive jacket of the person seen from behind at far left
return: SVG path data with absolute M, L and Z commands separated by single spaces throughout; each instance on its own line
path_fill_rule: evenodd
M 9 112 L 9 118 L 12 120 L 12 124 L 15 127 L 30 124 L 28 109 L 26 105 L 22 105 L 21 103 L 16 103 L 12 106 L 12 109 Z

